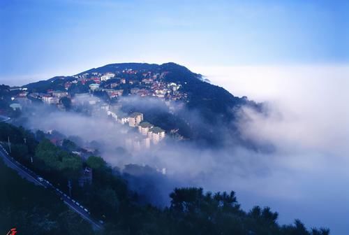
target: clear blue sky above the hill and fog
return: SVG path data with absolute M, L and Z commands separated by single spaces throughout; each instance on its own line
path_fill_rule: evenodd
M 0 80 L 50 78 L 114 62 L 349 61 L 349 6 L 341 1 L 11 0 L 0 6 Z

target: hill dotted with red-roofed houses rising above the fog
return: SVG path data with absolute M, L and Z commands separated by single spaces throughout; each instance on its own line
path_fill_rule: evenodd
M 202 76 L 172 62 L 166 64 L 107 64 L 74 76 L 57 76 L 24 85 L 29 97 L 43 97 L 52 91 L 66 91 L 70 97 L 91 93 L 108 104 L 122 97 L 156 98 L 184 104 L 175 112 L 169 108 L 139 106 L 140 101 L 123 104 L 125 113 L 141 112 L 144 118 L 165 131 L 177 130 L 180 136 L 200 143 L 218 145 L 227 131 L 234 141 L 244 143 L 235 127 L 239 108 L 260 105 L 246 97 L 235 97 L 223 87 L 202 80 Z M 33 95 L 31 95 L 33 94 Z

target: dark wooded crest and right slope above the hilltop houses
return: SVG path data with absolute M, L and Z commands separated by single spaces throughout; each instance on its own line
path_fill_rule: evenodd
M 132 70 L 136 73 L 124 73 Z M 126 76 L 129 79 L 137 79 L 142 73 L 165 73 L 163 80 L 167 83 L 181 84 L 181 92 L 185 92 L 187 107 L 200 111 L 205 120 L 214 123 L 217 118 L 225 121 L 231 121 L 234 118 L 232 110 L 238 106 L 250 105 L 258 107 L 253 101 L 248 101 L 246 97 L 235 97 L 223 87 L 212 85 L 202 80 L 202 75 L 193 73 L 185 66 L 175 63 L 165 64 L 146 64 L 146 63 L 121 63 L 107 64 L 94 69 L 89 69 L 81 73 L 77 73 L 74 77 L 86 75 L 87 78 L 94 74 L 114 73 L 120 78 Z M 66 81 L 74 80 L 73 76 L 57 76 L 49 80 L 30 83 L 24 85 L 31 91 L 45 92 L 46 90 L 64 90 Z M 89 85 L 89 83 L 87 83 Z M 86 85 L 86 86 L 87 86 Z M 133 83 L 131 87 L 140 87 L 137 83 Z M 87 92 L 88 87 L 81 89 L 81 92 Z

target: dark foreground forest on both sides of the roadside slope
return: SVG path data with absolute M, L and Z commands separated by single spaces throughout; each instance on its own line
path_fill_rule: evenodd
M 329 229 L 306 229 L 295 220 L 279 225 L 278 213 L 255 206 L 243 211 L 235 192 L 205 192 L 202 188 L 175 188 L 170 204 L 157 208 L 140 204 L 140 195 L 132 192 L 118 169 L 101 157 L 87 159 L 73 154 L 72 141 L 61 147 L 22 127 L 0 123 L 0 141 L 12 142 L 11 155 L 82 201 L 94 218 L 105 221 L 105 229 L 93 231 L 82 218 L 69 211 L 50 190 L 34 186 L 0 163 L 0 232 L 17 227 L 19 234 L 289 234 L 325 235 Z M 25 139 L 25 141 L 24 141 Z M 5 146 L 5 145 L 4 145 Z M 31 158 L 34 159 L 31 162 Z M 90 185 L 79 187 L 77 178 L 84 166 L 93 169 Z

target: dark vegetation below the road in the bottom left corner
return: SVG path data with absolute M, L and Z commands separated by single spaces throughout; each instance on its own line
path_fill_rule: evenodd
M 20 178 L 0 159 L 0 234 L 95 234 L 53 192 Z

